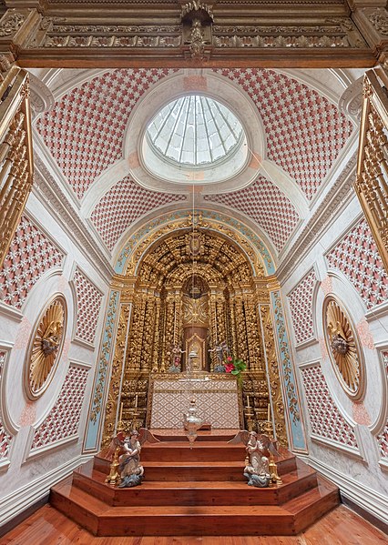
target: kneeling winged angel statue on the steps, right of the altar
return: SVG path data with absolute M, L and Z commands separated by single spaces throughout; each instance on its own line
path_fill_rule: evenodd
M 256 431 L 240 429 L 239 433 L 230 439 L 230 443 L 244 443 L 247 450 L 247 459 L 244 477 L 250 486 L 266 488 L 270 485 L 271 472 L 270 455 L 279 456 L 274 443 L 268 435 L 258 435 Z

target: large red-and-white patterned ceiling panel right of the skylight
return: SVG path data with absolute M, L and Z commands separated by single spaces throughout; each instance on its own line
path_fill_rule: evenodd
M 256 68 L 216 72 L 249 94 L 265 127 L 268 158 L 311 200 L 351 136 L 352 123 L 324 96 L 289 76 Z

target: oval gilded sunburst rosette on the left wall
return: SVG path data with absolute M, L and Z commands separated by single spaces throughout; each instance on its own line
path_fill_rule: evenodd
M 56 295 L 37 319 L 25 364 L 26 393 L 39 398 L 48 388 L 62 354 L 67 322 L 66 299 Z

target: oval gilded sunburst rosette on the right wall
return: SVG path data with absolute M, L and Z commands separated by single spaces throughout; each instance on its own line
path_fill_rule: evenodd
M 365 370 L 357 333 L 342 303 L 334 296 L 323 301 L 323 328 L 335 374 L 347 395 L 361 399 L 365 390 Z

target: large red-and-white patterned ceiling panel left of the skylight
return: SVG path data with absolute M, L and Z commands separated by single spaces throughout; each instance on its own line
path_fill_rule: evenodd
M 168 68 L 120 69 L 73 89 L 36 122 L 36 129 L 81 199 L 87 188 L 122 156 L 128 117 Z

